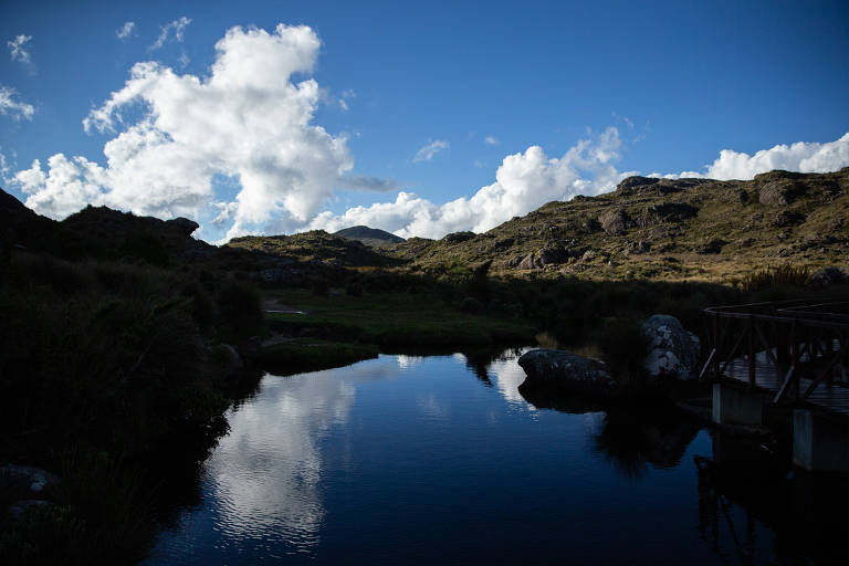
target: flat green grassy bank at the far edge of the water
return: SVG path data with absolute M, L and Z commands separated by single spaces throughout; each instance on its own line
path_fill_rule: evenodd
M 273 331 L 310 333 L 331 339 L 359 340 L 381 346 L 478 346 L 532 342 L 534 328 L 525 323 L 458 312 L 440 298 L 402 293 L 316 296 L 292 290 L 274 298 L 306 314 L 270 313 Z

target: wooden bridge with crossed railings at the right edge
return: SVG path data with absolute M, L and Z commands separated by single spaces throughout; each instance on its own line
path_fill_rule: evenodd
M 849 416 L 849 301 L 786 301 L 704 311 L 700 379 L 729 378 L 772 401 Z

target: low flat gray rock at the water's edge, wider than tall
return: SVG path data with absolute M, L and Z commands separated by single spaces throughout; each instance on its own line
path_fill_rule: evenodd
M 570 352 L 532 349 L 518 358 L 518 365 L 527 375 L 525 382 L 541 387 L 594 396 L 608 396 L 617 388 L 616 380 L 601 361 Z

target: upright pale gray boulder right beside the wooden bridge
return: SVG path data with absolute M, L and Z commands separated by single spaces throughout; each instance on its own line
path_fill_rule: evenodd
M 642 323 L 649 339 L 643 366 L 652 377 L 674 377 L 683 381 L 699 377 L 699 337 L 686 332 L 678 318 L 656 314 Z

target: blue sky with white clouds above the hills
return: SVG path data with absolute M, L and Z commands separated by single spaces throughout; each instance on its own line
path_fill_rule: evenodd
M 0 0 L 0 180 L 196 237 L 482 232 L 849 166 L 849 2 Z

